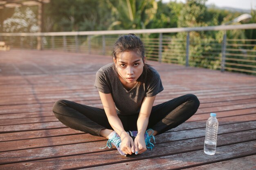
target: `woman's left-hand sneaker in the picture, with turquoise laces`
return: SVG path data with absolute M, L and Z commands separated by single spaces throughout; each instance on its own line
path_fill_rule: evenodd
M 112 148 L 112 144 L 117 148 L 118 152 L 126 157 L 126 154 L 121 151 L 120 146 L 121 146 L 121 137 L 119 137 L 119 135 L 117 134 L 117 132 L 113 131 L 110 133 L 110 135 L 108 136 L 108 142 L 105 148 Z M 100 148 L 100 149 L 105 149 L 105 148 Z

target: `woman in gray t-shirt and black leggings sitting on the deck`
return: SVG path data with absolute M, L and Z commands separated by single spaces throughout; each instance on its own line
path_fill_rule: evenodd
M 96 74 L 94 86 L 104 109 L 59 100 L 53 107 L 55 116 L 70 128 L 108 138 L 108 148 L 114 144 L 123 156 L 152 149 L 150 139 L 189 119 L 200 102 L 188 94 L 153 106 L 164 88 L 157 71 L 145 63 L 144 51 L 135 34 L 119 37 L 112 51 L 114 62 Z

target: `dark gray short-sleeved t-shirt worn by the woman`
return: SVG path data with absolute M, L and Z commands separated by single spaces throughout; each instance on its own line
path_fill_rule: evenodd
M 152 71 L 152 78 L 145 83 L 135 85 L 130 91 L 124 88 L 114 63 L 103 66 L 96 73 L 94 86 L 102 93 L 111 93 L 120 115 L 138 114 L 144 97 L 152 97 L 164 90 L 159 73 L 148 66 Z

